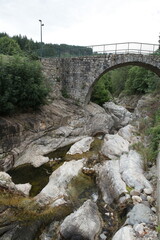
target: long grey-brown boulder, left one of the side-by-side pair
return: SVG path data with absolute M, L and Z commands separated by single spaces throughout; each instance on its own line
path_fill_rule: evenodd
M 119 160 L 106 161 L 102 165 L 97 165 L 95 169 L 98 186 L 107 204 L 118 200 L 122 193 L 127 193 L 126 184 L 119 171 Z

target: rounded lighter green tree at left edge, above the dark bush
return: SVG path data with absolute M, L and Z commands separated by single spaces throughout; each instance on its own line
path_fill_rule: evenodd
M 0 38 L 0 53 L 6 55 L 14 55 L 21 54 L 22 51 L 14 39 L 9 38 L 8 36 L 4 36 Z

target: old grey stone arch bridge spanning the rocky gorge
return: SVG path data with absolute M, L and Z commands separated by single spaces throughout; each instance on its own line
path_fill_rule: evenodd
M 137 65 L 160 77 L 160 56 L 154 54 L 116 53 L 74 58 L 43 58 L 42 65 L 56 96 L 63 95 L 81 105 L 90 101 L 94 84 L 106 72 L 127 65 Z

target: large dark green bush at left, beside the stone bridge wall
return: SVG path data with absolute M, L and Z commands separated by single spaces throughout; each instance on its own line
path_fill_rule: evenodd
M 44 104 L 47 89 L 37 61 L 18 56 L 0 58 L 0 113 L 37 109 Z

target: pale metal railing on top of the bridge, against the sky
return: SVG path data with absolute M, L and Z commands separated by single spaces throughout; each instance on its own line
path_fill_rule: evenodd
M 160 45 L 139 42 L 111 43 L 87 46 L 94 54 L 160 54 Z

